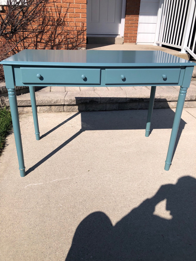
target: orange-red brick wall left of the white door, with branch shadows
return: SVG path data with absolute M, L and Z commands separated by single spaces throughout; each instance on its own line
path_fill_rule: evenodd
M 44 14 L 43 32 L 30 35 L 18 44 L 17 51 L 30 49 L 81 49 L 86 47 L 86 0 L 50 0 Z M 13 42 L 24 34 L 15 35 Z

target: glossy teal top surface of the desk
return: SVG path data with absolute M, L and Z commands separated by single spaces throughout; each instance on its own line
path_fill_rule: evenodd
M 3 60 L 4 65 L 40 66 L 194 66 L 195 63 L 162 51 L 32 50 Z

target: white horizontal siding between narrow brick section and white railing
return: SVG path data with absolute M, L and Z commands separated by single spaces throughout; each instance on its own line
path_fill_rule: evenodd
M 137 44 L 154 43 L 160 0 L 141 0 Z

